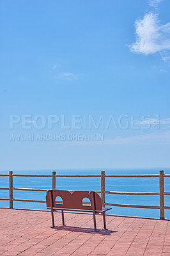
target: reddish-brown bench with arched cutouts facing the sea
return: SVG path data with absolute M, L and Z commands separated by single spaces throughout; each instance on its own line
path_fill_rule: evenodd
M 61 202 L 58 202 L 60 197 Z M 90 204 L 84 205 L 82 200 L 89 199 Z M 65 225 L 64 211 L 78 211 L 78 212 L 93 212 L 94 232 L 97 232 L 96 214 L 102 213 L 104 219 L 104 229 L 106 228 L 105 223 L 105 212 L 111 208 L 102 208 L 101 197 L 94 191 L 74 191 L 70 193 L 67 190 L 48 190 L 46 195 L 47 209 L 51 210 L 52 227 L 54 224 L 54 211 L 61 210 L 62 222 Z

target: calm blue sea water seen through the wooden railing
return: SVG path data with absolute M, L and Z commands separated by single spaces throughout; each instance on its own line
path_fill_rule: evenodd
M 158 170 L 105 170 L 105 174 L 158 174 Z M 8 173 L 8 172 L 0 172 Z M 52 174 L 47 171 L 13 171 L 15 174 Z M 57 174 L 100 174 L 97 170 L 56 170 Z M 170 169 L 164 169 L 169 174 Z M 170 192 L 170 178 L 165 178 L 165 191 Z M 106 178 L 105 190 L 131 192 L 158 192 L 158 178 Z M 8 187 L 8 177 L 0 177 L 0 187 Z M 13 177 L 15 188 L 52 188 L 51 177 Z M 100 190 L 100 178 L 57 178 L 56 189 L 66 190 Z M 0 190 L 0 198 L 9 197 L 8 190 Z M 13 198 L 45 200 L 45 192 L 13 191 Z M 159 196 L 105 195 L 105 202 L 116 204 L 159 205 Z M 170 206 L 170 196 L 165 196 L 165 205 Z M 15 208 L 46 209 L 45 204 L 29 202 L 13 202 Z M 9 207 L 8 201 L 0 201 L 0 207 Z M 127 207 L 112 207 L 108 213 L 159 218 L 158 209 L 137 209 Z M 165 211 L 165 217 L 170 219 L 170 210 Z

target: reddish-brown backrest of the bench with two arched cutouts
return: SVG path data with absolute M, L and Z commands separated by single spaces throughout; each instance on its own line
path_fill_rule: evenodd
M 92 198 L 89 191 L 74 191 L 70 193 L 67 190 L 49 190 L 47 191 L 46 204 L 47 208 L 50 208 L 50 193 L 52 195 L 52 206 L 54 208 L 65 208 L 65 209 L 79 209 L 79 210 L 92 210 Z M 102 200 L 100 196 L 93 192 L 95 198 L 95 210 L 102 211 Z M 63 204 L 58 204 L 57 196 L 61 197 Z M 88 198 L 91 204 L 83 205 L 82 200 Z M 61 202 L 62 203 L 62 202 Z

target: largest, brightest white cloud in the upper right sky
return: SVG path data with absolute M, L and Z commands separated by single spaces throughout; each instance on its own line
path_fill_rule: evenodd
M 155 10 L 144 15 L 143 19 L 135 20 L 135 43 L 130 45 L 130 51 L 144 55 L 159 52 L 162 60 L 169 59 L 170 22 L 162 24 L 158 19 L 157 6 L 161 0 L 150 0 L 150 6 Z

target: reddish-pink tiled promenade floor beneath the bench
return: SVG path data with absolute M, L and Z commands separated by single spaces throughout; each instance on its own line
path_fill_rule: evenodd
M 0 208 L 0 255 L 170 255 L 168 220 L 107 215 L 108 230 L 93 233 L 91 214 L 65 213 L 65 227 L 54 215 L 59 226 L 50 228 L 50 212 Z

